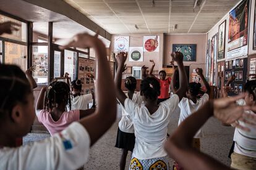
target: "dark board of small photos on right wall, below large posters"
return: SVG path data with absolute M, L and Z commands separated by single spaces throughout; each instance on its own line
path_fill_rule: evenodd
M 246 83 L 247 75 L 247 58 L 233 59 L 225 62 L 224 82 L 228 81 L 228 78 L 232 75 L 236 76 L 236 79 L 231 83 L 233 91 L 229 92 L 229 95 L 237 95 L 242 93 L 243 84 Z

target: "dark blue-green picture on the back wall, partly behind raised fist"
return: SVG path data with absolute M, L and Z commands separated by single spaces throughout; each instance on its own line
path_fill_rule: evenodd
M 173 52 L 181 52 L 184 55 L 184 62 L 195 62 L 197 44 L 173 44 Z

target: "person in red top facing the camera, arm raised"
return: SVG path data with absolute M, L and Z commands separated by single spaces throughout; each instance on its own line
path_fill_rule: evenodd
M 164 70 L 161 70 L 159 72 L 159 78 L 154 76 L 152 73 L 153 73 L 153 69 L 155 67 L 155 62 L 154 62 L 154 60 L 150 60 L 150 62 L 152 63 L 152 66 L 151 66 L 150 72 L 148 74 L 150 76 L 156 78 L 158 80 L 158 82 L 160 83 L 160 95 L 158 96 L 158 100 L 157 100 L 157 103 L 160 103 L 160 102 L 163 102 L 164 100 L 169 99 L 169 97 L 170 97 L 169 89 L 170 89 L 170 84 L 171 84 L 171 78 L 170 77 L 166 78 L 166 72 Z

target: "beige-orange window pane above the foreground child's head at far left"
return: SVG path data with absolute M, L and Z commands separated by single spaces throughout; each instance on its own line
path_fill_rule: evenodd
M 12 42 L 4 42 L 5 59 L 4 63 L 19 65 L 23 70 L 27 70 L 27 46 L 14 44 Z

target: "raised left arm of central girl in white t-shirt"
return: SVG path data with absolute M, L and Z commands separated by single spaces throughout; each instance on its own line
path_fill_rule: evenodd
M 117 61 L 117 71 L 116 76 L 114 78 L 114 84 L 116 85 L 116 96 L 119 102 L 124 105 L 124 100 L 126 100 L 126 94 L 121 89 L 122 83 L 122 70 L 124 68 L 124 63 L 127 59 L 127 53 L 121 52 L 117 54 L 116 61 Z

